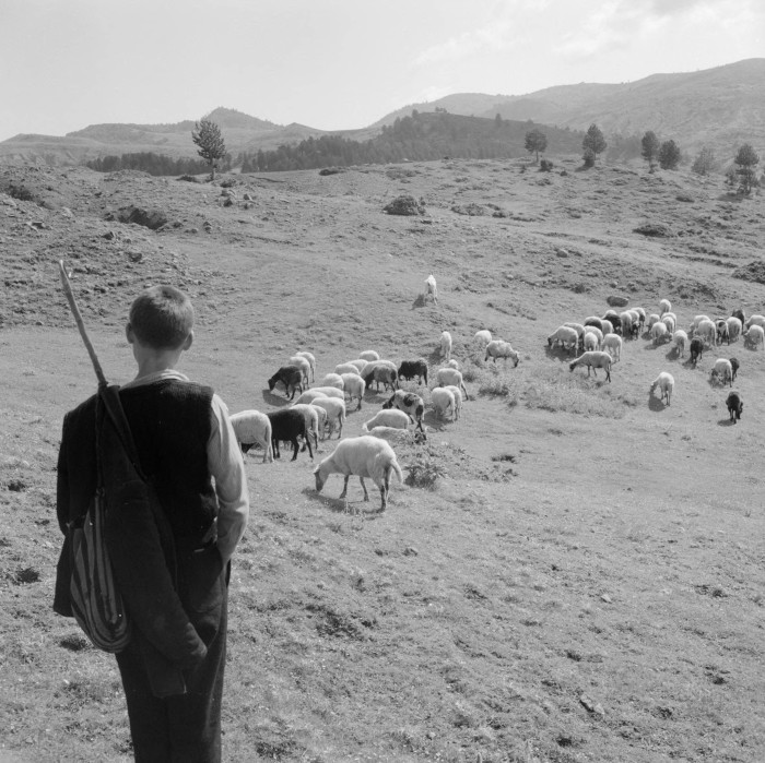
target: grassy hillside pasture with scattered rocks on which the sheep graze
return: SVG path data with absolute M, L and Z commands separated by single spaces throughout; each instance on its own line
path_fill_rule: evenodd
M 317 494 L 307 454 L 248 454 L 225 760 L 760 760 L 765 351 L 737 342 L 694 367 L 644 335 L 609 383 L 569 371 L 546 337 L 613 295 L 649 312 L 669 298 L 682 326 L 762 312 L 762 196 L 551 158 L 552 174 L 452 159 L 220 179 L 232 189 L 0 167 L 0 758 L 131 759 L 114 659 L 50 609 L 61 418 L 95 388 L 58 286 L 64 258 L 116 382 L 133 373 L 137 290 L 187 289 L 198 326 L 181 370 L 232 412 L 285 405 L 266 380 L 299 348 L 319 375 L 368 348 L 433 372 L 442 331 L 455 339 L 470 398 L 440 420 L 407 384 L 428 440 L 397 448 L 405 484 L 386 512 L 357 480 L 358 515 L 343 512 L 340 477 Z M 401 194 L 425 214 L 386 215 Z M 166 224 L 118 222 L 130 207 Z M 438 305 L 421 296 L 428 273 Z M 513 343 L 517 368 L 472 348 L 484 327 Z M 731 355 L 737 425 L 709 377 Z M 648 392 L 664 370 L 669 406 Z M 386 396 L 349 412 L 343 437 Z

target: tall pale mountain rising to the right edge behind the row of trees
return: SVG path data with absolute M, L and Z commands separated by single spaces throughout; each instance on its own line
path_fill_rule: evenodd
M 652 74 L 622 84 L 557 85 L 526 95 L 461 93 L 393 111 L 375 127 L 412 109 L 531 119 L 586 130 L 592 122 L 609 135 L 654 130 L 684 151 L 708 145 L 728 156 L 742 143 L 765 151 L 765 58 L 681 74 Z

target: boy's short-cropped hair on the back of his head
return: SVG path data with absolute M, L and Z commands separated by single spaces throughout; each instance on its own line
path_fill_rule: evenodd
M 176 349 L 193 327 L 193 305 L 175 286 L 152 286 L 130 306 L 130 325 L 142 345 Z

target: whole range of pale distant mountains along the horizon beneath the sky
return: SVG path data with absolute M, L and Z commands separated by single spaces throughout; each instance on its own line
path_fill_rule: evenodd
M 575 131 L 595 122 L 612 146 L 629 143 L 633 155 L 643 133 L 652 130 L 660 140 L 673 139 L 686 154 L 706 145 L 725 159 L 742 143 L 765 152 L 765 58 L 691 73 L 652 74 L 621 84 L 557 85 L 525 95 L 458 93 L 398 109 L 364 130 L 330 132 L 297 123 L 280 126 L 227 108 L 217 108 L 209 117 L 221 126 L 226 148 L 237 156 L 326 135 L 364 142 L 414 109 L 445 109 L 490 119 L 498 114 L 506 120 Z M 185 120 L 173 124 L 92 124 L 64 136 L 20 134 L 0 142 L 0 159 L 78 164 L 136 152 L 196 157 L 192 129 L 193 120 Z

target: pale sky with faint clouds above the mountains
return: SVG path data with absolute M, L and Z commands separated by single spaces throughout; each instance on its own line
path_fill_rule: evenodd
M 219 106 L 350 130 L 762 57 L 764 0 L 0 0 L 0 141 Z

